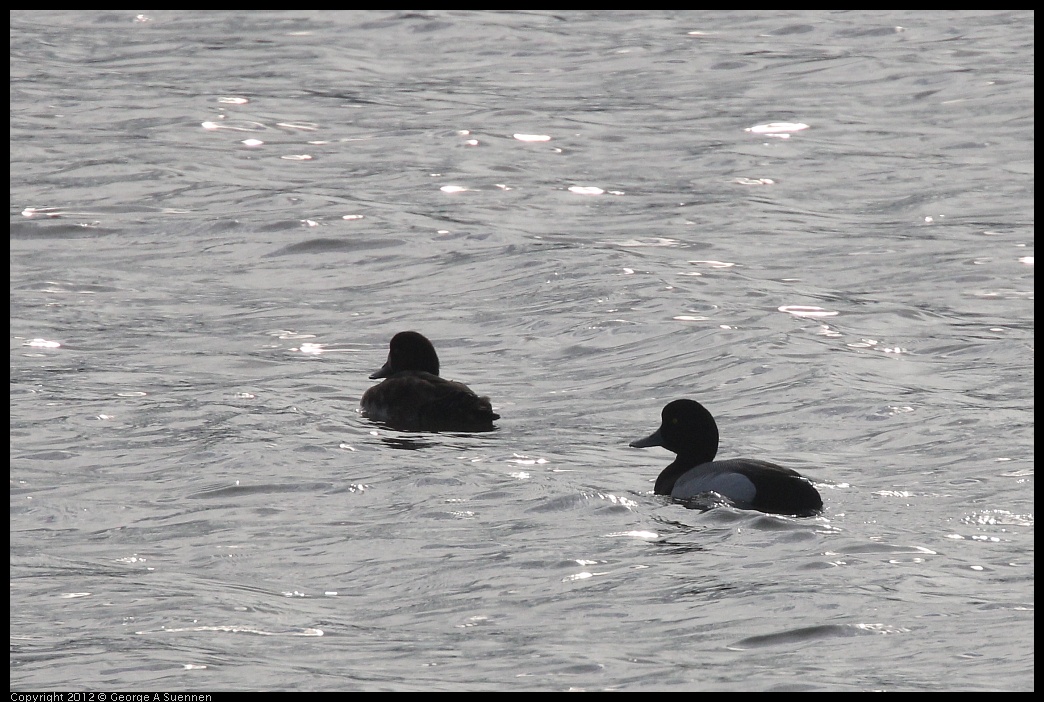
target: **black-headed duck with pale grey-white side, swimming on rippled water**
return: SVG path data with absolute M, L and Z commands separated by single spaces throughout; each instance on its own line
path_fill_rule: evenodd
M 688 501 L 713 492 L 739 509 L 799 517 L 823 510 L 815 486 L 796 470 L 757 459 L 715 461 L 717 423 L 695 400 L 669 402 L 661 413 L 660 428 L 631 446 L 663 446 L 678 454 L 656 478 L 658 495 Z

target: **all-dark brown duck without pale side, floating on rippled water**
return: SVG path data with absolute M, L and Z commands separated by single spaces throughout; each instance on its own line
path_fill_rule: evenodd
M 492 431 L 500 415 L 490 398 L 438 375 L 438 354 L 417 331 L 392 337 L 387 361 L 371 376 L 383 378 L 362 394 L 370 419 L 401 431 Z

